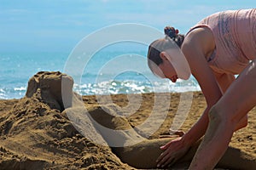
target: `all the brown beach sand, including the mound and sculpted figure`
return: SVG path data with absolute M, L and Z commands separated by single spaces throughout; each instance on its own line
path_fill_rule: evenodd
M 93 95 L 82 97 L 82 105 L 87 108 L 90 118 L 112 129 L 132 129 L 131 127 L 138 127 L 146 122 L 153 109 L 156 96 L 162 99 L 171 96 L 171 104 L 166 110 L 165 101 L 158 103 L 158 110 L 160 112 L 166 110 L 167 116 L 160 128 L 150 134 L 148 139 L 145 139 L 145 134 L 139 130 L 120 134 L 126 139 L 134 136 L 137 139 L 144 139 L 137 144 L 115 148 L 85 138 L 78 129 L 95 134 L 95 138 L 105 144 L 111 145 L 116 142 L 108 138 L 109 134 L 102 133 L 102 129 L 95 125 L 88 125 L 87 122 L 81 122 L 77 127 L 73 126 L 70 111 L 77 112 L 79 107 L 71 105 L 68 99 L 71 98 L 74 101 L 79 96 L 67 92 L 65 103 L 69 103 L 69 109 L 65 110 L 65 104 L 59 96 L 60 80 L 63 77 L 67 80 L 65 89 L 72 89 L 70 88 L 73 84 L 71 77 L 60 72 L 40 72 L 31 78 L 24 98 L 0 100 L 0 169 L 154 168 L 154 159 L 160 154 L 159 146 L 178 137 L 172 135 L 166 139 L 173 117 L 177 112 L 181 94 L 132 94 L 129 96 L 115 94 L 111 95 L 113 102 L 104 105 L 99 105 L 99 97 L 96 98 Z M 105 96 L 100 96 L 100 99 L 104 98 Z M 129 106 L 128 99 L 131 98 L 142 99 L 142 102 L 137 111 L 129 115 L 128 112 L 132 108 Z M 203 94 L 194 92 L 189 116 L 181 130 L 188 131 L 205 107 Z M 123 114 L 123 116 L 113 116 L 116 113 Z M 255 108 L 250 111 L 248 118 L 247 127 L 234 133 L 230 148 L 219 163 L 220 167 L 254 169 L 253 167 L 256 166 Z M 160 120 L 156 119 L 155 122 L 157 121 Z M 123 144 L 128 143 L 124 140 Z M 196 145 L 179 160 L 173 169 L 186 168 L 195 150 Z

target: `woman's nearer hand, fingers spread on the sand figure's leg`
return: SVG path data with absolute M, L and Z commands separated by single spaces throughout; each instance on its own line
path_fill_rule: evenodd
M 174 139 L 160 147 L 165 150 L 156 160 L 157 167 L 171 167 L 179 158 L 184 156 L 190 145 L 186 144 L 183 137 Z

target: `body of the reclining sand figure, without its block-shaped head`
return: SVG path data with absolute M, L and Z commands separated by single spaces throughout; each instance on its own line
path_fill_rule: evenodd
M 112 147 L 113 153 L 119 156 L 120 160 L 129 164 L 131 167 L 137 168 L 155 168 L 157 167 L 157 158 L 163 152 L 160 150 L 160 146 L 166 144 L 168 141 L 175 139 L 144 139 L 143 136 L 137 133 L 131 127 L 131 124 L 123 116 L 114 116 L 122 113 L 121 109 L 117 105 L 90 105 L 84 112 L 84 104 L 76 99 L 78 96 L 73 97 L 73 107 L 68 109 L 67 115 L 73 120 L 79 117 L 79 123 L 74 123 L 74 126 L 79 129 L 80 133 L 83 131 L 98 132 L 101 137 L 96 137 L 96 140 L 104 139 L 104 144 L 123 144 L 124 147 Z M 122 114 L 121 114 L 122 115 Z M 125 115 L 125 114 L 124 114 Z M 85 118 L 87 117 L 87 118 Z M 91 121 L 91 122 L 90 122 Z M 84 122 L 84 123 L 83 123 Z M 94 127 L 88 127 L 86 124 L 90 122 Z M 84 126 L 86 126 L 84 128 Z M 105 128 L 110 129 L 108 133 Z M 131 131 L 121 131 L 120 133 L 112 134 L 111 130 L 125 130 L 130 129 Z M 96 136 L 96 134 L 95 134 Z M 141 141 L 137 144 L 125 146 L 130 141 Z M 106 142 L 106 143 L 105 143 Z M 195 155 L 198 145 L 201 141 L 191 145 L 188 152 L 177 158 L 177 162 L 172 168 L 188 168 L 190 161 Z M 236 162 L 236 163 L 235 163 Z M 241 168 L 241 169 L 252 169 L 256 166 L 256 161 L 252 157 L 247 156 L 246 153 L 242 153 L 241 150 L 229 147 L 223 158 L 218 162 L 220 168 Z

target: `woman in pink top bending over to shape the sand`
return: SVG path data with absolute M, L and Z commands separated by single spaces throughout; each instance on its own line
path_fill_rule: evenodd
M 224 155 L 232 134 L 247 126 L 247 112 L 256 105 L 256 9 L 212 14 L 185 37 L 173 27 L 166 27 L 165 33 L 166 38 L 148 48 L 149 68 L 172 82 L 184 75 L 180 68 L 185 66 L 178 67 L 178 56 L 172 54 L 177 48 L 170 44 L 176 42 L 201 86 L 207 108 L 189 132 L 161 147 L 165 151 L 158 166 L 175 162 L 205 134 L 190 168 L 211 169 Z

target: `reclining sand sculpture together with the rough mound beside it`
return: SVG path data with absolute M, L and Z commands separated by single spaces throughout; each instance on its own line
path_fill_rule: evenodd
M 61 85 L 62 81 L 64 83 Z M 86 99 L 86 96 L 84 98 Z M 38 72 L 28 82 L 26 96 L 9 103 L 6 101 L 5 105 L 9 111 L 0 111 L 2 157 L 0 167 L 3 169 L 155 168 L 155 160 L 162 152 L 160 145 L 177 138 L 144 139 L 136 130 L 131 130 L 130 133 L 124 131 L 120 134 L 124 143 L 125 139 L 131 138 L 143 140 L 126 147 L 109 148 L 95 144 L 83 136 L 84 131 L 97 133 L 96 138 L 104 144 L 112 143 L 114 140 L 101 128 L 97 128 L 95 122 L 110 129 L 132 129 L 132 127 L 124 117 L 113 116 L 116 111 L 122 112 L 120 107 L 114 104 L 96 105 L 96 103 L 86 105 L 89 119 L 74 124 L 79 116 L 83 119 L 84 102 L 80 99 L 84 98 L 73 93 L 72 77 L 61 72 Z M 94 121 L 90 122 L 92 119 Z M 172 169 L 188 167 L 198 144 L 191 147 Z M 255 157 L 229 147 L 219 161 L 218 167 L 253 169 L 256 167 L 256 161 Z

